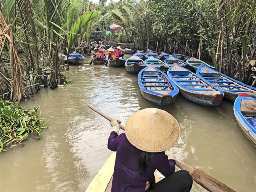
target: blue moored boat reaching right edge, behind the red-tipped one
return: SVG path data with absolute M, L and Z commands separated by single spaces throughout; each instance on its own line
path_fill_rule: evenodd
M 205 65 L 201 65 L 196 74 L 206 79 L 212 86 L 218 87 L 225 93 L 225 98 L 234 102 L 240 93 L 248 93 L 256 98 L 256 89 L 240 81 L 230 78 Z

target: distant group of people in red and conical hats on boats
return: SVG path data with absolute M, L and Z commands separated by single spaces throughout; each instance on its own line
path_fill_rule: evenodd
M 94 52 L 93 57 L 94 58 L 101 58 L 101 59 L 106 58 L 106 55 L 104 54 L 104 52 L 105 52 L 104 48 L 105 48 L 104 45 L 101 45 L 100 48 L 95 47 L 94 50 L 93 50 L 93 52 Z M 110 47 L 107 50 L 109 51 L 108 59 L 110 59 L 110 60 L 114 60 L 117 57 L 123 57 L 124 56 L 124 53 L 122 52 L 123 50 L 121 49 L 120 46 L 118 46 L 116 48 L 116 50 L 113 49 L 112 47 Z

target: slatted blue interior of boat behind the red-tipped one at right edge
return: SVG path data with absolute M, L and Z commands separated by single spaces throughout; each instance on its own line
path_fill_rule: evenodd
M 214 73 L 208 70 L 206 67 L 203 67 L 202 72 L 199 73 L 206 79 L 208 82 L 212 83 L 213 85 L 218 86 L 219 88 L 227 91 L 232 91 L 234 93 L 239 92 L 248 92 L 248 93 L 256 93 L 255 90 L 251 89 L 250 87 L 246 87 L 241 83 L 238 83 L 231 78 L 227 78 L 220 73 Z

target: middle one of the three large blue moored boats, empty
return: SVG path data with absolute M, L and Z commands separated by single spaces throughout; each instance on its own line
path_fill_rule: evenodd
M 177 64 L 168 69 L 167 75 L 177 85 L 180 94 L 193 103 L 217 106 L 224 97 L 223 91 L 211 86 L 206 80 Z

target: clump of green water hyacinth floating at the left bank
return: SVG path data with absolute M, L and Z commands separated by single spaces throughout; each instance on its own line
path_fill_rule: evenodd
M 20 144 L 31 133 L 42 138 L 40 132 L 47 127 L 38 118 L 38 108 L 27 110 L 16 103 L 0 100 L 0 153 L 11 144 Z

